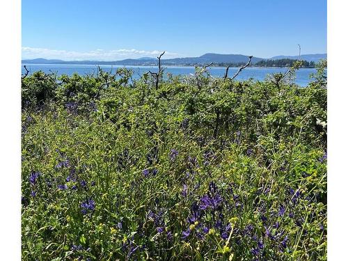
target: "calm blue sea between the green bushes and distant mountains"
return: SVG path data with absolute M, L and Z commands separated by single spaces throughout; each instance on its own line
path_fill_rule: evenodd
M 156 66 L 120 66 L 120 65 L 100 65 L 100 68 L 107 72 L 115 72 L 117 68 L 130 68 L 134 71 L 134 78 L 139 78 L 144 72 L 148 72 L 148 70 L 157 70 Z M 56 72 L 58 75 L 60 74 L 68 74 L 71 75 L 74 72 L 78 74 L 85 75 L 90 73 L 97 72 L 97 65 L 54 65 L 54 64 L 26 64 L 26 68 L 32 72 L 36 72 L 38 70 L 42 70 L 43 72 Z M 165 67 L 165 73 L 169 72 L 173 75 L 178 74 L 193 74 L 194 67 Z M 238 68 L 230 68 L 228 71 L 229 77 L 232 77 L 235 72 L 237 72 Z M 246 80 L 246 79 L 255 79 L 255 80 L 264 80 L 268 74 L 274 74 L 276 72 L 286 72 L 286 68 L 246 68 L 242 72 L 239 73 L 236 79 L 238 80 Z M 25 70 L 22 67 L 22 73 Z M 209 68 L 209 73 L 212 77 L 223 77 L 226 72 L 226 68 L 223 67 L 212 67 Z M 301 68 L 296 72 L 295 83 L 299 86 L 307 86 L 307 84 L 311 81 L 310 74 L 315 73 L 316 70 L 313 68 Z

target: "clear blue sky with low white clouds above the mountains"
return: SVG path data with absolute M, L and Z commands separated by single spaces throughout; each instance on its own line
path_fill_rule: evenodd
M 324 0 L 22 0 L 22 58 L 326 52 Z

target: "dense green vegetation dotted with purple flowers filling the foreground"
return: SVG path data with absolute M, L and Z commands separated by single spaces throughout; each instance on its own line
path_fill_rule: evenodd
M 23 260 L 326 260 L 323 74 L 26 77 Z

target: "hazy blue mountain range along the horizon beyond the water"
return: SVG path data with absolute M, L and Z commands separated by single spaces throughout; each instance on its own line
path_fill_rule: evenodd
M 302 54 L 301 59 L 305 61 L 314 61 L 315 63 L 320 59 L 326 59 L 327 54 Z M 278 60 L 283 58 L 297 59 L 299 56 L 274 56 L 271 58 L 253 57 L 252 64 L 258 63 L 262 60 Z M 203 54 L 199 57 L 185 57 L 185 58 L 171 58 L 161 59 L 162 65 L 203 65 L 208 63 L 214 64 L 241 64 L 247 63 L 249 56 L 242 54 Z M 22 60 L 22 64 L 36 63 L 36 64 L 77 64 L 77 65 L 157 65 L 157 58 L 143 57 L 137 59 L 125 59 L 121 61 L 63 61 L 51 60 L 44 58 L 36 58 L 31 60 Z

